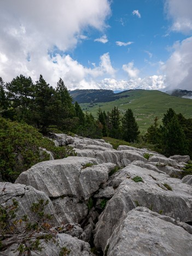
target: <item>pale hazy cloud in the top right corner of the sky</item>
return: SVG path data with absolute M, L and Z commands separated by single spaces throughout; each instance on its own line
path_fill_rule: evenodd
M 171 27 L 173 31 L 187 34 L 192 31 L 191 0 L 166 0 L 165 10 L 168 18 L 173 20 Z

